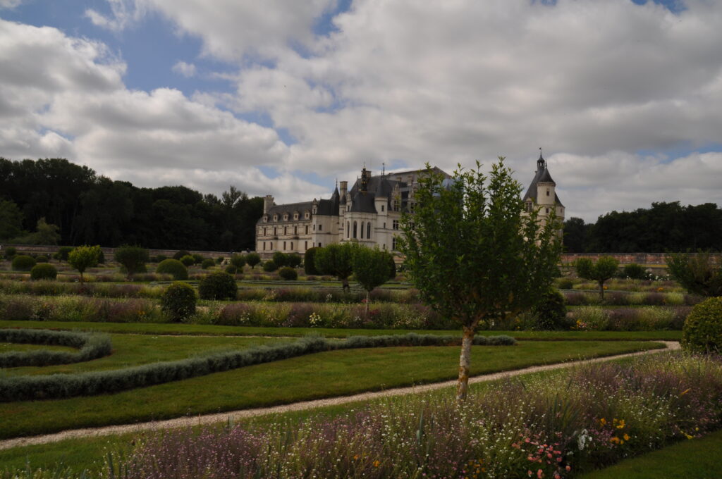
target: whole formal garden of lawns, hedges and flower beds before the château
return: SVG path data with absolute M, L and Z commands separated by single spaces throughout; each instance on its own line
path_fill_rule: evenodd
M 454 188 L 427 200 L 471 198 Z M 352 244 L 266 260 L 4 248 L 0 478 L 577 478 L 715 440 L 715 258 L 670 255 L 664 278 L 611 257 L 559 265 L 554 225 L 537 230 L 534 215 L 505 215 L 522 223 L 484 245 L 436 227 L 438 211 L 404 222 L 404 268 Z M 494 214 L 451 220 L 488 227 Z M 641 354 L 582 361 L 629 353 Z M 542 365 L 557 366 L 484 378 Z M 456 390 L 437 384 L 457 377 Z M 438 387 L 393 395 L 421 384 Z M 263 410 L 327 398 L 342 399 Z M 198 421 L 149 425 L 183 417 Z M 82 431 L 108 426 L 131 428 Z M 43 436 L 56 433 L 68 439 Z

